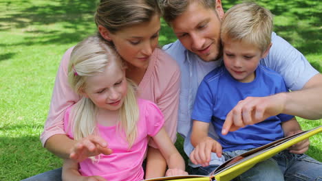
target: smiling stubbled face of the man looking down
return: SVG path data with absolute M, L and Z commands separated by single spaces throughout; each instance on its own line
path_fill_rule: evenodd
M 171 27 L 186 49 L 209 62 L 217 60 L 222 55 L 220 43 L 222 16 L 224 10 L 220 1 L 217 1 L 216 9 L 204 8 L 195 1 L 171 22 Z

